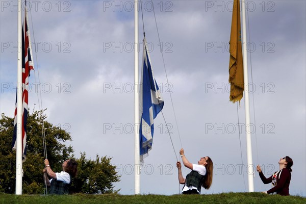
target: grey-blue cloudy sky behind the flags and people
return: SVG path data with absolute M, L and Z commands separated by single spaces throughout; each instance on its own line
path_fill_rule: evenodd
M 0 3 L 0 112 L 13 117 L 17 3 Z M 153 5 L 161 43 L 150 1 L 143 1 L 144 27 L 175 152 L 166 122 L 158 115 L 154 144 L 142 168 L 141 193 L 180 192 L 183 186 L 175 167 L 179 132 L 190 162 L 203 156 L 214 162 L 213 184 L 202 193 L 245 192 L 244 99 L 238 113 L 228 99 L 233 3 L 153 1 Z M 302 196 L 306 196 L 305 8 L 305 1 L 287 0 L 248 1 L 246 9 L 253 164 L 260 164 L 270 176 L 278 170 L 279 158 L 290 156 L 294 161 L 290 194 Z M 34 1 L 29 21 L 36 69 L 30 78 L 30 113 L 39 110 L 40 89 L 40 108 L 47 109 L 49 122 L 71 133 L 73 141 L 67 144 L 75 155 L 112 157 L 121 175 L 115 189 L 134 194 L 134 3 Z M 141 65 L 141 18 L 139 25 Z M 184 176 L 188 172 L 183 167 Z M 270 188 L 256 172 L 255 191 Z

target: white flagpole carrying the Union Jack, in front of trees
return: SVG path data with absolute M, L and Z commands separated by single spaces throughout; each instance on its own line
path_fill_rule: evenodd
M 17 134 L 16 134 L 16 195 L 22 194 L 22 25 L 21 0 L 18 0 L 17 34 Z

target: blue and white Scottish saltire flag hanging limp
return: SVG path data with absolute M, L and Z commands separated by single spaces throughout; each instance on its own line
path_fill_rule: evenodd
M 141 86 L 139 95 L 140 114 L 140 161 L 148 156 L 148 151 L 152 148 L 154 134 L 154 118 L 161 112 L 164 100 L 154 78 L 151 67 L 151 60 L 147 52 L 147 43 L 143 39 L 143 62 L 141 73 Z

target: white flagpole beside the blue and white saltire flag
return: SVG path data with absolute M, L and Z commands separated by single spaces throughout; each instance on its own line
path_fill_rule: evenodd
M 134 160 L 135 194 L 140 194 L 140 147 L 139 147 L 139 70 L 138 70 L 138 0 L 134 1 Z

